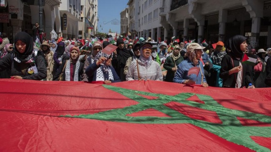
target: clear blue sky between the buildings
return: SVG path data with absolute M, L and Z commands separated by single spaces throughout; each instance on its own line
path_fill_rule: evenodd
M 108 33 L 120 33 L 120 12 L 128 7 L 129 0 L 98 0 L 98 31 Z M 118 21 L 119 25 L 113 25 L 112 20 Z M 101 28 L 100 28 L 101 26 Z

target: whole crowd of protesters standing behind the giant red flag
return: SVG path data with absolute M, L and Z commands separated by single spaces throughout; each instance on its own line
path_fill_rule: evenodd
M 26 32 L 10 44 L 0 39 L 0 78 L 42 81 L 117 83 L 155 80 L 203 87 L 261 88 L 271 86 L 271 48 L 248 49 L 247 38 L 235 35 L 215 45 L 193 41 L 155 42 L 119 37 L 87 40 L 51 40 L 37 44 Z M 117 46 L 111 54 L 102 50 Z M 203 45 L 205 44 L 205 45 Z M 257 55 L 254 65 L 242 56 Z M 199 69 L 198 74 L 190 73 Z

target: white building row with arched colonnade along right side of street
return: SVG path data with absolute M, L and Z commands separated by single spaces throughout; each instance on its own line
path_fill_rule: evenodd
M 132 18 L 140 23 L 130 25 L 139 37 L 217 42 L 240 34 L 253 48 L 271 47 L 271 0 L 129 0 L 127 5 L 134 5 Z

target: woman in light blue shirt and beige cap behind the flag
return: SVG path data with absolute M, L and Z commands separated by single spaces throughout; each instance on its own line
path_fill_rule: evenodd
M 201 84 L 203 87 L 208 87 L 204 76 L 204 69 L 202 62 L 199 61 L 202 54 L 204 53 L 202 49 L 205 47 L 200 46 L 198 43 L 190 43 L 187 46 L 187 59 L 183 60 L 179 65 L 173 82 L 183 83 L 188 85 Z M 198 67 L 199 73 L 188 75 L 189 69 L 193 67 Z

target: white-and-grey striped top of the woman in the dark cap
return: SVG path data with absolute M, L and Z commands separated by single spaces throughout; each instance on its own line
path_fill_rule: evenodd
M 136 60 L 133 60 L 129 66 L 126 81 L 138 80 Z M 138 60 L 138 69 L 140 79 L 163 81 L 161 67 L 156 61 L 151 60 L 147 66 L 147 64 L 143 63 L 141 60 Z

